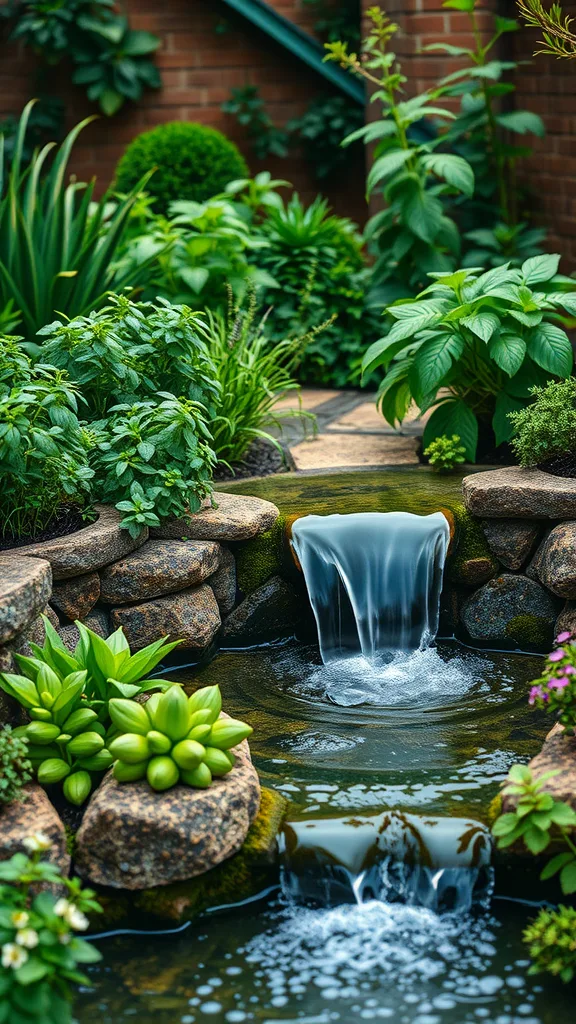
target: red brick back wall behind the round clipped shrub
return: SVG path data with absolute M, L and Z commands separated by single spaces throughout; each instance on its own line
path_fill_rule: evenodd
M 280 13 L 312 31 L 314 17 L 299 0 L 273 0 Z M 166 121 L 198 121 L 220 129 L 244 151 L 252 172 L 264 167 L 293 182 L 306 200 L 326 191 L 334 209 L 357 220 L 366 217 L 364 166 L 353 162 L 336 181 L 322 188 L 315 181 L 303 154 L 286 160 L 254 159 L 236 120 L 221 103 L 236 86 L 258 86 L 274 121 L 282 126 L 300 115 L 314 96 L 333 91 L 320 75 L 292 57 L 283 47 L 237 15 L 221 0 L 126 0 L 133 29 L 154 32 L 162 40 L 157 63 L 163 87 L 149 91 L 137 104 L 128 104 L 114 118 L 89 125 L 77 143 L 71 169 L 82 179 L 96 175 L 100 190 L 127 142 L 138 132 Z M 35 94 L 36 61 L 16 45 L 2 47 L 0 117 L 19 111 Z M 65 70 L 50 73 L 50 91 L 66 97 L 70 125 L 94 113 L 83 93 L 70 85 Z M 59 88 L 58 88 L 59 86 Z

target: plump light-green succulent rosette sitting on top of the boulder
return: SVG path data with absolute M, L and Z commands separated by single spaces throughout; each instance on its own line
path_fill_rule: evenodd
M 177 683 L 145 705 L 111 700 L 120 733 L 109 743 L 117 758 L 114 777 L 119 782 L 147 778 L 158 792 L 176 782 L 208 788 L 213 778 L 232 771 L 232 748 L 253 731 L 245 722 L 220 716 L 221 706 L 219 687 L 205 686 L 187 697 Z

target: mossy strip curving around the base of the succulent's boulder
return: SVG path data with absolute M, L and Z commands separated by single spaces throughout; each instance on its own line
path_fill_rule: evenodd
M 261 891 L 276 873 L 276 837 L 286 808 L 284 797 L 274 790 L 262 790 L 258 814 L 244 846 L 234 857 L 196 879 L 135 893 L 134 907 L 179 923 L 210 906 L 236 903 Z

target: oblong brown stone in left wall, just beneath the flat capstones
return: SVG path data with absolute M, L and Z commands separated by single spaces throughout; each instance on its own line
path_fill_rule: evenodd
M 101 600 L 124 604 L 197 586 L 218 568 L 220 550 L 214 541 L 147 541 L 101 570 Z

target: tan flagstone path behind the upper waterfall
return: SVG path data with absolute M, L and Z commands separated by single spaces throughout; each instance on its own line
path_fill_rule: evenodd
M 297 408 L 297 392 L 277 402 L 279 414 Z M 366 391 L 302 388 L 300 408 L 316 416 L 312 423 L 297 417 L 283 421 L 279 436 L 290 449 L 301 472 L 355 466 L 417 466 L 418 443 L 425 417 L 409 413 L 402 430 L 390 427 Z

